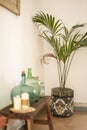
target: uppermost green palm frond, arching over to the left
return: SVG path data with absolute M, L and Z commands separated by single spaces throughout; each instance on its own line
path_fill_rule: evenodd
M 33 23 L 38 26 L 45 26 L 47 30 L 50 30 L 52 35 L 57 35 L 62 26 L 61 20 L 55 22 L 55 17 L 49 14 L 45 14 L 44 12 L 39 12 L 32 18 Z

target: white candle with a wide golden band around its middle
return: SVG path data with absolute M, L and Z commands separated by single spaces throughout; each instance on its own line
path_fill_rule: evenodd
M 29 94 L 28 93 L 22 93 L 21 95 L 21 107 L 24 110 L 29 109 Z

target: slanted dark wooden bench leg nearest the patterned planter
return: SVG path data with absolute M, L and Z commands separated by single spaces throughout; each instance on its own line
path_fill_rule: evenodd
M 47 119 L 49 123 L 49 130 L 53 130 L 52 116 L 51 116 L 49 103 L 46 103 L 46 113 L 47 113 Z

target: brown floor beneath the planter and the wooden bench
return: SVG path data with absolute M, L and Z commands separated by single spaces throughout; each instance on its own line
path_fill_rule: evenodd
M 45 113 L 41 113 L 40 118 L 46 118 Z M 87 112 L 74 112 L 71 117 L 53 117 L 54 130 L 87 130 Z M 34 130 L 49 130 L 47 125 L 34 125 Z

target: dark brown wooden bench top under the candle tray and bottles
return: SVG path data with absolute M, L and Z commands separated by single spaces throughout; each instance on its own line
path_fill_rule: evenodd
M 44 96 L 42 98 L 39 99 L 39 101 L 35 102 L 32 107 L 35 108 L 35 111 L 33 112 L 27 112 L 27 113 L 15 113 L 10 111 L 10 108 L 13 107 L 12 104 L 6 106 L 5 108 L 0 110 L 0 114 L 6 116 L 7 118 L 10 119 L 28 119 L 28 118 L 32 118 L 35 115 L 38 114 L 38 112 L 40 112 L 43 108 L 45 108 L 46 104 L 49 103 L 50 101 L 50 96 Z

